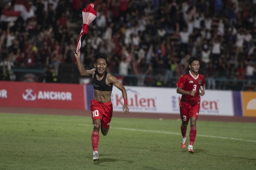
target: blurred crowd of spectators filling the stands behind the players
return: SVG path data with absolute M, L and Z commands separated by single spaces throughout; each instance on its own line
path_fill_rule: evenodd
M 256 90 L 256 0 L 1 0 L 0 80 L 79 83 L 73 51 L 90 2 L 86 69 L 105 53 L 124 85 L 175 87 L 197 56 L 207 89 Z

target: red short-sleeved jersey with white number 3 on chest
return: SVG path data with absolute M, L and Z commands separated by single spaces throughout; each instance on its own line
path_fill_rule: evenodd
M 204 75 L 203 74 L 197 74 L 197 77 L 195 78 L 190 71 L 184 73 L 179 81 L 177 82 L 176 86 L 182 88 L 185 91 L 192 91 L 196 90 L 195 96 L 190 95 L 182 95 L 181 97 L 181 106 L 185 103 L 188 104 L 188 106 L 194 106 L 195 104 L 200 104 L 200 86 L 204 86 Z M 183 104 L 183 102 L 185 102 Z

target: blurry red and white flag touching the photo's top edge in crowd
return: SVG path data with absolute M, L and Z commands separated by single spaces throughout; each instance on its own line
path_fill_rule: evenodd
M 20 11 L 20 16 L 26 21 L 28 18 L 34 17 L 32 3 L 27 0 L 15 0 L 14 11 Z

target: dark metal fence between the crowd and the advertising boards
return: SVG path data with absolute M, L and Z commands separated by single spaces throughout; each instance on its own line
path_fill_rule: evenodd
M 59 69 L 58 75 L 51 70 L 46 69 L 13 69 L 16 75 L 15 81 L 37 81 L 37 82 L 56 82 L 56 83 L 82 83 L 80 74 L 75 64 L 65 65 Z M 65 68 L 65 69 L 64 69 Z M 123 85 L 128 86 L 150 86 L 150 87 L 173 87 L 176 88 L 176 83 L 179 77 L 170 75 L 143 75 L 143 74 L 129 74 L 119 75 L 112 73 L 116 76 Z M 28 77 L 28 79 L 27 79 Z M 31 79 L 33 78 L 33 79 Z M 91 83 L 89 78 L 87 83 Z M 218 90 L 236 90 L 236 91 L 256 91 L 256 80 L 237 80 L 237 79 L 226 79 L 226 78 L 205 78 L 206 89 L 218 89 Z

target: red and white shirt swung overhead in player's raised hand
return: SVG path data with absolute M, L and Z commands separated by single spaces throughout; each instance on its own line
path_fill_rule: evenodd
M 86 8 L 82 11 L 83 14 L 83 27 L 80 32 L 80 35 L 77 40 L 76 44 L 76 50 L 75 53 L 77 54 L 80 51 L 81 45 L 83 43 L 84 37 L 87 34 L 88 31 L 88 25 L 93 22 L 93 20 L 96 18 L 97 13 L 94 10 L 94 3 L 90 3 L 86 6 Z

